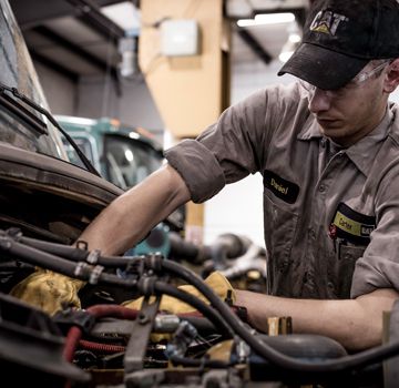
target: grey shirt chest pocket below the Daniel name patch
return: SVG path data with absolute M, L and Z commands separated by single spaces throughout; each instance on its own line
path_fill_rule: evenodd
M 267 249 L 268 290 L 270 294 L 285 293 L 291 287 L 286 273 L 291 264 L 291 248 L 298 223 L 298 215 L 288 205 L 277 204 L 264 193 L 265 243 Z

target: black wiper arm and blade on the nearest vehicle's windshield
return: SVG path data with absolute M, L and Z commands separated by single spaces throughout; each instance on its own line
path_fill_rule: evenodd
M 21 100 L 27 105 L 31 106 L 33 110 L 38 111 L 39 113 L 45 115 L 45 118 L 65 136 L 65 139 L 70 142 L 73 150 L 76 152 L 81 161 L 83 162 L 84 166 L 91 173 L 101 176 L 100 173 L 95 170 L 92 163 L 89 161 L 86 155 L 81 151 L 74 140 L 69 135 L 66 131 L 57 122 L 57 120 L 52 116 L 52 114 L 45 110 L 44 108 L 40 106 L 31 99 L 27 98 L 24 94 L 20 93 L 17 88 L 10 88 L 0 82 L 0 104 L 3 104 L 9 111 L 13 112 L 14 114 L 19 114 L 25 120 L 34 130 L 37 130 L 40 134 L 49 134 L 47 125 L 43 121 L 37 118 L 34 114 L 29 112 L 23 105 L 19 104 L 16 100 L 11 99 L 7 92 L 11 93 L 18 100 Z

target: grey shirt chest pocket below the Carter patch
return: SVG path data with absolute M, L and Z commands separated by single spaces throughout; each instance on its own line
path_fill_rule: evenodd
M 335 263 L 335 278 L 337 296 L 339 298 L 349 298 L 350 288 L 355 272 L 355 265 L 366 251 L 366 246 L 354 246 L 340 244 Z

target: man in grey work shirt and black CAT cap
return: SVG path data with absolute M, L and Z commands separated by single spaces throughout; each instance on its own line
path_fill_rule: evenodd
M 348 349 L 379 344 L 382 312 L 399 296 L 399 119 L 388 103 L 398 20 L 396 0 L 315 1 L 279 72 L 298 82 L 250 95 L 170 149 L 168 164 L 80 239 L 122 254 L 185 202 L 260 172 L 269 295 L 236 290 L 236 304 L 259 329 L 268 316 L 291 316 L 296 333 Z

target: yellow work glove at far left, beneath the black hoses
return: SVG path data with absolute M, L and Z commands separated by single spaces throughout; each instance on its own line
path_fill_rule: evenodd
M 78 292 L 83 285 L 81 280 L 51 270 L 38 269 L 17 284 L 10 294 L 53 315 L 66 306 L 80 308 Z

